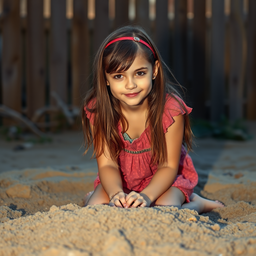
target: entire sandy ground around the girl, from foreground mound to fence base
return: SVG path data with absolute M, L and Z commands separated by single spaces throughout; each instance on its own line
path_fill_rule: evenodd
M 256 123 L 250 123 L 251 133 Z M 14 151 L 0 141 L 0 255 L 255 255 L 256 147 L 198 139 L 195 192 L 226 206 L 207 214 L 175 207 L 82 206 L 97 174 L 77 132 Z

